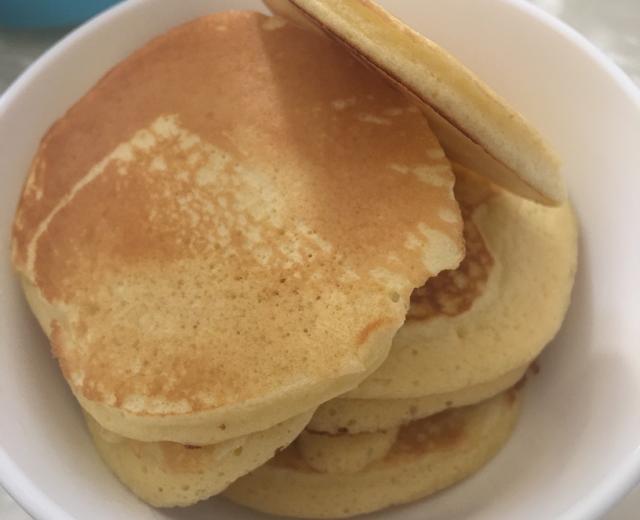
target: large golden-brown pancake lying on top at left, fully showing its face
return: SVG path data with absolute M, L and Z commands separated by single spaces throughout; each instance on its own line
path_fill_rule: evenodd
M 422 115 L 341 46 L 219 13 L 52 126 L 13 262 L 99 424 L 214 444 L 380 365 L 411 291 L 462 258 L 453 182 Z

